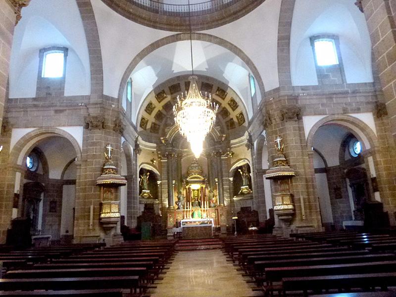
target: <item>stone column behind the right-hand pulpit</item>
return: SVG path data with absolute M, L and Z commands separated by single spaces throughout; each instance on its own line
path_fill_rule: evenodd
M 292 224 L 280 222 L 274 229 L 283 236 L 288 236 L 291 232 L 311 232 L 321 230 L 321 220 L 319 213 L 319 203 L 316 193 L 315 173 L 312 159 L 309 157 L 310 151 L 307 149 L 303 121 L 301 119 L 300 107 L 296 104 L 297 97 L 282 96 L 278 99 L 266 102 L 266 110 L 271 113 L 272 121 L 268 125 L 267 140 L 270 155 L 270 167 L 276 156 L 276 149 L 273 143 L 280 135 L 283 139 L 284 154 L 287 161 L 296 171 L 296 177 L 292 179 L 291 193 L 294 195 L 293 202 L 296 208 Z M 288 114 L 288 116 L 283 116 Z M 271 181 L 272 193 L 278 192 L 278 184 Z M 274 198 L 273 198 L 274 200 Z M 281 228 L 279 228 L 281 227 Z

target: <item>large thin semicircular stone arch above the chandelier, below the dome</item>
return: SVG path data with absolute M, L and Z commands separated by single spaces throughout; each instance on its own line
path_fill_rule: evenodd
M 257 67 L 254 65 L 253 61 L 247 56 L 247 54 L 237 46 L 233 45 L 229 41 L 222 39 L 220 37 L 206 34 L 206 33 L 197 33 L 193 32 L 191 35 L 192 40 L 198 40 L 198 41 L 205 41 L 209 43 L 213 43 L 215 45 L 218 45 L 220 47 L 223 47 L 225 49 L 230 50 L 234 54 L 236 54 L 238 57 L 240 57 L 247 67 L 249 67 L 249 70 L 253 74 L 254 78 L 257 81 L 258 87 L 260 89 L 260 94 L 261 97 L 264 96 L 265 94 L 265 88 L 264 88 L 264 83 L 261 78 L 260 73 L 258 72 Z M 157 41 L 154 41 L 150 45 L 148 45 L 146 48 L 142 49 L 131 61 L 131 63 L 128 65 L 126 68 L 121 82 L 120 82 L 120 88 L 118 90 L 118 99 L 119 99 L 119 104 L 122 105 L 122 96 L 124 93 L 124 89 L 127 83 L 127 80 L 129 76 L 131 75 L 132 71 L 136 68 L 136 66 L 151 52 L 153 52 L 155 49 L 159 49 L 163 46 L 178 42 L 178 41 L 185 41 L 185 40 L 190 40 L 190 33 L 178 33 L 174 35 L 170 35 L 164 38 L 161 38 Z

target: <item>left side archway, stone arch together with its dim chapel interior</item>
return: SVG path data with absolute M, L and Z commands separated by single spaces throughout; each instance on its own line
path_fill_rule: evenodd
M 22 170 L 15 176 L 22 199 L 14 207 L 17 216 L 33 219 L 32 235 L 71 242 L 81 151 L 75 138 L 57 130 L 33 130 L 12 148 L 10 159 Z

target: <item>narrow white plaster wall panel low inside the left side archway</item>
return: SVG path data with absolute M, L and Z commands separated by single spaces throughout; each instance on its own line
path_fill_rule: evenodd
M 76 185 L 63 186 L 62 192 L 62 217 L 60 220 L 60 235 L 66 234 L 69 230 L 69 235 L 74 232 L 73 208 L 76 198 Z

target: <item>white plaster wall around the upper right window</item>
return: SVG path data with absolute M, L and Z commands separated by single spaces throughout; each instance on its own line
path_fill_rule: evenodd
M 347 83 L 373 81 L 370 37 L 353 1 L 297 0 L 290 44 L 293 85 L 318 84 L 309 37 L 319 34 L 339 36 Z

